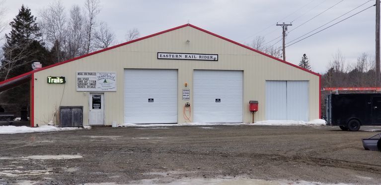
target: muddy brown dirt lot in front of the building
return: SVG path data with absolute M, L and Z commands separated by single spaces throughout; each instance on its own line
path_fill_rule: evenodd
M 380 184 L 381 152 L 366 151 L 361 143 L 376 133 L 220 125 L 2 134 L 0 184 L 221 178 Z

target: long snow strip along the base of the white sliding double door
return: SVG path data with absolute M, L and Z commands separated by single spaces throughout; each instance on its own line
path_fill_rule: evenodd
M 323 126 L 325 120 L 312 120 L 309 122 L 293 120 L 267 120 L 253 123 L 255 125 L 277 125 L 277 126 Z

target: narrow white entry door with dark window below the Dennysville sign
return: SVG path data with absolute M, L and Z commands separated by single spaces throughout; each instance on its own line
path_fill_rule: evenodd
M 104 93 L 90 93 L 88 111 L 90 125 L 104 124 Z

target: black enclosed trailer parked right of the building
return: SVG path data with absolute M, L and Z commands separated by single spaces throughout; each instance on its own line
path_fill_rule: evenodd
M 357 131 L 361 125 L 381 125 L 381 94 L 330 94 L 326 122 L 342 130 Z

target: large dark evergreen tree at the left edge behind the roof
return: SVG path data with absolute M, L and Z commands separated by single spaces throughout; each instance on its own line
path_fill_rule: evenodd
M 41 42 L 40 28 L 29 8 L 19 9 L 9 23 L 11 31 L 5 35 L 2 47 L 3 60 L 0 68 L 0 81 L 32 70 L 33 62 L 52 64 L 50 54 Z M 0 103 L 6 112 L 19 113 L 21 107 L 29 105 L 29 84 L 22 84 L 0 93 Z

